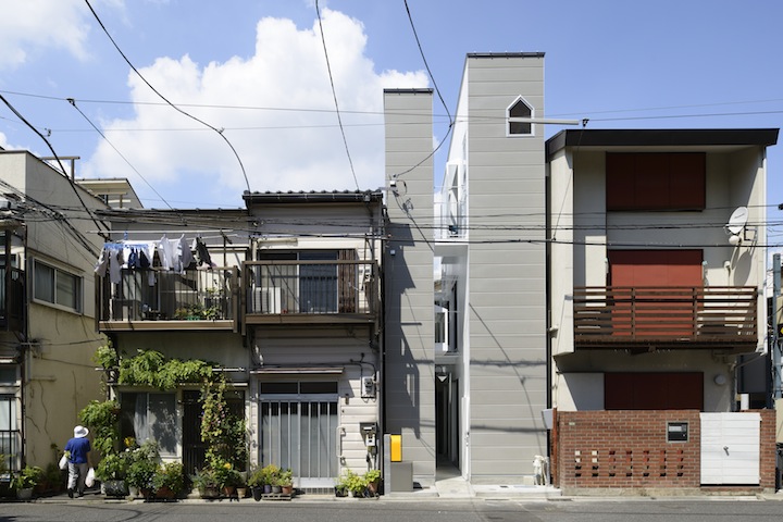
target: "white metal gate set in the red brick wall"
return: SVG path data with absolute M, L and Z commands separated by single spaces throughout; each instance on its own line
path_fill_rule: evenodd
M 701 484 L 759 484 L 761 415 L 701 413 Z

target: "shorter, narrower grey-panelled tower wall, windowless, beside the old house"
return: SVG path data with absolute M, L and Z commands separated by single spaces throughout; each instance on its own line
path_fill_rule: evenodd
M 384 94 L 386 177 L 408 171 L 432 152 L 432 92 Z M 432 232 L 432 158 L 398 177 L 388 196 L 385 257 L 386 433 L 402 435 L 402 458 L 417 481 L 435 477 L 435 378 Z M 408 204 L 409 213 L 402 209 Z M 389 250 L 395 250 L 395 256 Z

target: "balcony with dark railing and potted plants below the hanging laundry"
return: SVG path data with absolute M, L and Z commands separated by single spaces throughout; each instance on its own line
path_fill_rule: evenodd
M 123 269 L 120 283 L 97 277 L 97 316 L 101 332 L 227 330 L 237 332 L 234 298 L 238 269 Z

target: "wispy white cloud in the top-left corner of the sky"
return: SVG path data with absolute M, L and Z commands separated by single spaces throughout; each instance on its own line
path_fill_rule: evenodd
M 84 0 L 12 3 L 3 7 L 0 16 L 0 71 L 17 67 L 32 55 L 52 48 L 64 49 L 79 60 L 88 57 L 85 42 L 90 13 Z M 116 4 L 116 1 L 110 3 Z

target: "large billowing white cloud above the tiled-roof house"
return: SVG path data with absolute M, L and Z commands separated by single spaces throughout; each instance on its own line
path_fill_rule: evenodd
M 361 189 L 377 188 L 384 169 L 383 89 L 426 87 L 427 78 L 423 72 L 375 72 L 364 54 L 362 24 L 331 10 L 322 10 L 322 17 L 357 181 L 337 126 L 318 21 L 309 29 L 298 29 L 289 20 L 266 17 L 258 23 L 251 58 L 203 67 L 187 55 L 159 58 L 140 72 L 171 102 L 225 128 L 251 190 L 343 190 L 356 189 L 357 184 Z M 128 84 L 135 102 L 161 102 L 135 74 Z M 183 130 L 161 130 L 172 128 Z M 247 186 L 231 148 L 216 133 L 174 109 L 136 104 L 135 117 L 104 122 L 104 130 L 146 183 L 105 141 L 85 164 L 86 175 L 128 177 L 139 194 L 149 194 L 147 183 L 169 194 L 167 187 L 186 182 L 191 191 L 169 201 L 173 207 L 240 203 Z

